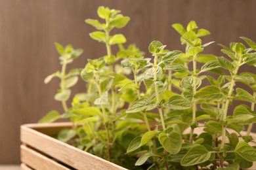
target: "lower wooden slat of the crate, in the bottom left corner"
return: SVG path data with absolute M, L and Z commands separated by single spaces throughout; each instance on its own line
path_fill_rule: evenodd
M 67 167 L 64 167 L 60 163 L 57 163 L 43 154 L 28 148 L 25 145 L 20 146 L 20 154 L 22 163 L 32 167 L 37 170 L 68 170 Z

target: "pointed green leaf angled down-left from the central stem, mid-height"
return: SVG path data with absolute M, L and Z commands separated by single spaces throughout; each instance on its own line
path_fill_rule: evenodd
M 135 101 L 127 110 L 127 113 L 140 112 L 146 110 L 150 105 L 150 99 L 148 97 L 142 97 L 139 100 Z

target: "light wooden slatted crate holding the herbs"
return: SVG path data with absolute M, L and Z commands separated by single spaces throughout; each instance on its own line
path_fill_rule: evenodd
M 125 169 L 51 137 L 65 127 L 72 127 L 72 124 L 64 122 L 21 126 L 21 169 Z M 200 132 L 202 128 L 195 129 L 195 133 Z M 252 136 L 256 139 L 255 133 Z M 255 170 L 256 163 L 250 169 Z

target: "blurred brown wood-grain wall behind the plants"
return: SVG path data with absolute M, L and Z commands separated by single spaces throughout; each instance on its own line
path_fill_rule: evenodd
M 240 36 L 256 41 L 253 0 L 0 0 L 0 4 L 0 164 L 20 162 L 21 124 L 37 122 L 49 110 L 61 110 L 53 99 L 58 80 L 43 84 L 47 75 L 60 69 L 54 42 L 85 50 L 69 68 L 84 67 L 87 58 L 106 54 L 104 44 L 88 36 L 95 29 L 84 22 L 85 18 L 97 18 L 99 5 L 131 17 L 129 24 L 117 31 L 125 34 L 127 44 L 135 42 L 144 52 L 153 40 L 167 44 L 168 49 L 183 50 L 171 24 L 184 25 L 190 20 L 211 31 L 205 42 L 227 45 L 240 41 Z M 205 52 L 222 55 L 217 43 Z M 79 82 L 73 93 L 83 89 Z

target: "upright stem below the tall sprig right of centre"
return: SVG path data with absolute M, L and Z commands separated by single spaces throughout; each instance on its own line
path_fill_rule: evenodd
M 196 93 L 196 56 L 193 56 L 193 94 Z M 196 124 L 196 101 L 192 103 L 192 123 L 191 123 L 191 129 L 190 129 L 190 143 L 193 143 L 193 135 L 194 135 L 194 124 Z

